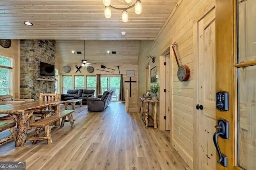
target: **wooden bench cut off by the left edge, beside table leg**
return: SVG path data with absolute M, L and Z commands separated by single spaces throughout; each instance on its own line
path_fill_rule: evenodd
M 0 122 L 0 132 L 10 129 L 11 136 L 8 136 L 4 139 L 0 139 L 0 146 L 4 145 L 5 143 L 8 143 L 10 140 L 14 139 L 16 140 L 16 135 L 14 133 L 14 127 L 16 126 L 16 123 L 10 123 L 10 122 Z

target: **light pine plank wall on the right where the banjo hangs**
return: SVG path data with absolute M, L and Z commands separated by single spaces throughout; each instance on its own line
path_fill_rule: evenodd
M 180 2 L 180 3 L 179 3 Z M 178 112 L 177 114 L 182 117 L 186 117 L 187 115 L 193 116 L 193 120 L 196 119 L 196 113 L 194 109 L 195 99 L 196 99 L 196 76 L 197 73 L 195 72 L 195 44 L 196 41 L 194 39 L 194 24 L 196 21 L 200 20 L 206 14 L 207 11 L 209 11 L 211 8 L 213 8 L 215 5 L 215 0 L 209 0 L 205 2 L 204 0 L 196 0 L 196 1 L 189 1 L 189 0 L 180 0 L 178 1 L 177 8 L 173 10 L 172 14 L 166 21 L 166 23 L 163 26 L 163 29 L 161 29 L 160 33 L 157 35 L 155 41 L 151 41 L 148 47 L 141 46 L 140 49 L 143 49 L 144 51 L 148 51 L 151 55 L 154 56 L 160 56 L 162 54 L 162 51 L 170 47 L 172 44 L 172 40 L 175 42 L 178 42 L 178 58 L 181 61 L 182 64 L 186 64 L 189 66 L 191 75 L 188 82 L 179 82 L 176 74 L 177 74 L 177 64 L 175 60 L 172 61 L 172 96 L 173 101 L 176 102 L 176 107 L 181 108 L 184 105 L 190 106 L 190 114 L 185 112 Z M 200 17 L 199 17 L 200 16 Z M 171 53 L 172 55 L 172 53 Z M 138 66 L 142 63 L 145 63 L 145 59 L 141 58 L 142 55 L 140 53 L 139 55 L 139 61 Z M 173 55 L 172 55 L 173 57 Z M 171 57 L 171 60 L 172 60 Z M 160 58 L 156 58 L 158 63 L 160 63 Z M 157 73 L 159 74 L 159 72 Z M 140 75 L 140 77 L 143 77 L 144 75 Z M 139 89 L 140 93 L 140 84 Z M 181 104 L 180 98 L 185 98 Z M 178 101 L 176 101 L 178 100 Z M 183 105 L 182 105 L 183 104 Z M 192 106 L 191 106 L 192 105 Z M 178 108 L 175 108 L 173 106 L 173 112 L 179 110 Z M 178 129 L 180 129 L 180 135 L 177 137 L 183 135 L 184 137 L 191 137 L 193 136 L 194 132 L 194 122 L 192 121 L 192 124 L 188 123 L 187 121 L 181 121 L 181 118 L 176 116 L 174 113 L 174 117 L 172 119 L 172 129 L 175 133 Z M 190 124 L 192 125 L 192 131 L 188 132 L 184 130 L 184 127 L 182 125 Z M 188 135 L 188 133 L 190 135 Z M 197 135 L 197 134 L 194 134 Z M 196 138 L 196 137 L 195 137 Z M 184 160 L 190 165 L 190 168 L 193 168 L 193 157 L 196 159 L 197 157 L 194 156 L 194 149 L 193 154 L 190 155 L 186 151 L 186 145 L 184 143 L 177 142 L 178 139 L 172 140 L 172 145 L 174 148 L 179 152 L 179 154 L 182 156 Z M 179 139 L 180 140 L 180 139 Z M 194 145 L 194 139 L 191 140 L 191 142 Z M 188 151 L 189 152 L 189 151 Z M 191 152 L 190 152 L 191 153 Z M 195 166 L 196 163 L 195 163 Z

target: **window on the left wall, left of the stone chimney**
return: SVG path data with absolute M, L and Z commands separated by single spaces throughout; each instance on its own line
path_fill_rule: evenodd
M 12 95 L 12 59 L 0 56 L 0 95 Z

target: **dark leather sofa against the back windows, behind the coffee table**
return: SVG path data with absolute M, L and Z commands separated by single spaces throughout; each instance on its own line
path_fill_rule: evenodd
M 94 96 L 95 90 L 79 89 L 68 90 L 67 94 L 61 94 L 61 100 L 82 99 L 82 104 L 87 104 L 87 98 Z

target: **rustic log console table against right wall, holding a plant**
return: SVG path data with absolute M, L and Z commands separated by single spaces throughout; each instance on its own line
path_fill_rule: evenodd
M 142 120 L 145 123 L 145 127 L 148 128 L 148 126 L 154 126 L 154 128 L 157 128 L 157 124 L 156 124 L 156 106 L 157 103 L 159 103 L 158 100 L 151 100 L 151 99 L 146 99 L 146 98 L 140 98 L 140 117 L 142 118 Z M 146 105 L 146 114 L 145 116 L 143 115 L 143 106 L 144 103 Z M 153 106 L 153 115 L 154 117 L 152 118 L 152 116 L 149 115 L 149 104 L 152 104 Z

